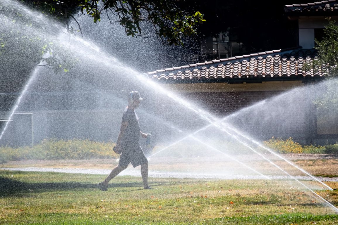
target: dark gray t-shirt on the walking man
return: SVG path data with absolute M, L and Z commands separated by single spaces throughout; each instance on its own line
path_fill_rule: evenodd
M 122 116 L 122 123 L 127 122 L 128 126 L 121 137 L 121 144 L 124 146 L 139 145 L 140 123 L 139 117 L 133 109 L 126 107 Z

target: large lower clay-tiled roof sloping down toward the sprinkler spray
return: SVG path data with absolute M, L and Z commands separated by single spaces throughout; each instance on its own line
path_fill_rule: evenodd
M 149 72 L 148 76 L 163 81 L 322 77 L 321 71 L 304 71 L 305 62 L 310 63 L 316 58 L 316 52 L 309 49 L 274 50 L 160 69 Z

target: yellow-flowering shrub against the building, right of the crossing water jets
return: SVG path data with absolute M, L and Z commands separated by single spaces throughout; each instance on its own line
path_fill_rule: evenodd
M 265 141 L 264 144 L 279 153 L 303 152 L 303 147 L 299 143 L 294 142 L 291 137 L 286 140 L 272 137 L 270 140 Z

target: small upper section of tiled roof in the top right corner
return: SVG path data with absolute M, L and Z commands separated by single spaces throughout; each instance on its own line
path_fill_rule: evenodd
M 336 14 L 338 12 L 338 0 L 285 5 L 284 10 L 291 14 Z

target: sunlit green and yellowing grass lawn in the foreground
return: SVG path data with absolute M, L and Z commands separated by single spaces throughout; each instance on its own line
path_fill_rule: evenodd
M 281 180 L 118 176 L 0 171 L 0 224 L 338 224 L 307 191 Z M 304 181 L 310 187 L 317 184 Z M 333 188 L 337 182 L 329 182 Z M 338 205 L 338 191 L 319 189 Z

